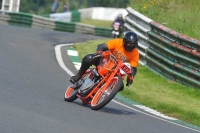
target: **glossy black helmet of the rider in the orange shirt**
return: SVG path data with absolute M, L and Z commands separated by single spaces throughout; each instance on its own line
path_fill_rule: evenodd
M 138 46 L 138 35 L 129 31 L 124 35 L 123 41 L 125 50 L 131 52 Z

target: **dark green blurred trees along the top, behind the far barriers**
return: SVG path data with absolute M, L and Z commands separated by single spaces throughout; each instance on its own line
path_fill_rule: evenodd
M 21 0 L 20 12 L 49 14 L 51 13 L 52 2 L 53 0 Z M 129 0 L 59 0 L 60 11 L 62 11 L 62 4 L 64 2 L 67 3 L 68 10 L 77 10 L 88 7 L 125 8 L 129 3 Z

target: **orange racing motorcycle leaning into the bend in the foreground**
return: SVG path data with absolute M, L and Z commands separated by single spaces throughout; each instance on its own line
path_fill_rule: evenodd
M 69 85 L 65 101 L 79 98 L 83 104 L 90 104 L 92 110 L 99 110 L 123 90 L 123 79 L 132 71 L 130 64 L 116 58 L 110 51 L 102 52 L 101 56 L 97 67 L 88 69 L 77 83 Z

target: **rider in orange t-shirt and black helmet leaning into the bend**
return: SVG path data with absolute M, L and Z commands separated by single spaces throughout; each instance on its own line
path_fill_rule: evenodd
M 138 39 L 136 33 L 129 31 L 124 35 L 124 38 L 116 38 L 106 43 L 99 44 L 95 54 L 88 54 L 83 58 L 80 70 L 75 76 L 70 78 L 70 81 L 76 83 L 90 66 L 97 66 L 99 64 L 102 58 L 100 56 L 102 51 L 110 50 L 116 58 L 123 59 L 123 61 L 130 63 L 132 73 L 127 76 L 126 86 L 128 86 L 128 84 L 131 85 L 133 83 L 133 78 L 137 73 L 139 61 L 139 52 L 136 48 L 138 46 Z

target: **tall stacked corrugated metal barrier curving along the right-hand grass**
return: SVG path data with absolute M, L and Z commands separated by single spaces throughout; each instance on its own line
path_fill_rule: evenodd
M 159 74 L 200 89 L 200 41 L 127 8 L 125 27 L 139 37 L 140 60 Z

